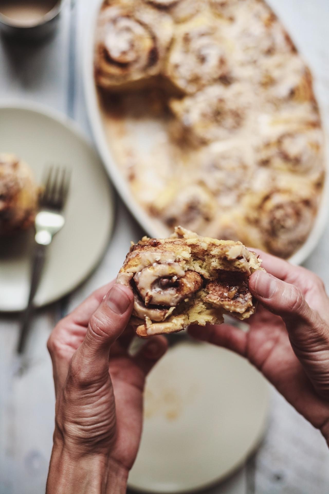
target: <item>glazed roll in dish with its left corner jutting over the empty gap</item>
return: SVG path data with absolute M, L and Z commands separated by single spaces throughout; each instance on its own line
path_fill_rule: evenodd
M 252 117 L 248 89 L 243 83 L 208 86 L 192 96 L 171 99 L 169 106 L 191 143 L 220 141 L 248 129 L 248 118 Z

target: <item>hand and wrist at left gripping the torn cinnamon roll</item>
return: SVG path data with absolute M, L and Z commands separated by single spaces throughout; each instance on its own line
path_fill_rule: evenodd
M 167 349 L 165 337 L 156 336 L 128 355 L 132 307 L 131 290 L 111 283 L 50 335 L 56 424 L 47 494 L 126 492 L 141 438 L 145 378 Z

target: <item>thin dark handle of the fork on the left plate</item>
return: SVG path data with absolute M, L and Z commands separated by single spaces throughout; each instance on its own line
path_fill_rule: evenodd
M 30 294 L 27 308 L 25 309 L 20 326 L 19 340 L 17 345 L 17 353 L 22 354 L 25 348 L 25 343 L 30 329 L 31 318 L 34 313 L 33 300 L 37 292 L 37 287 L 39 286 L 39 281 L 41 278 L 42 269 L 44 266 L 44 261 L 46 258 L 46 247 L 37 244 L 34 251 L 33 261 L 32 261 L 32 273 L 31 273 L 31 286 Z

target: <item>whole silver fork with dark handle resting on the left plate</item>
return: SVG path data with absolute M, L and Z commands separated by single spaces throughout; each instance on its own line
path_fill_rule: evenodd
M 71 173 L 60 166 L 50 166 L 45 174 L 43 192 L 40 197 L 39 212 L 35 220 L 36 245 L 32 261 L 32 274 L 29 300 L 23 313 L 17 352 L 23 353 L 31 318 L 34 312 L 33 300 L 41 278 L 42 268 L 46 258 L 46 247 L 51 243 L 54 235 L 64 226 L 63 209 L 70 188 Z

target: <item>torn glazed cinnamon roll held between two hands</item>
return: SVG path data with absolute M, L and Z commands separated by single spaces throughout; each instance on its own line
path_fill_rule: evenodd
M 130 324 L 142 337 L 180 331 L 189 324 L 244 320 L 255 312 L 249 276 L 261 260 L 240 242 L 199 237 L 176 227 L 169 239 L 144 237 L 133 245 L 117 283 L 133 289 Z

